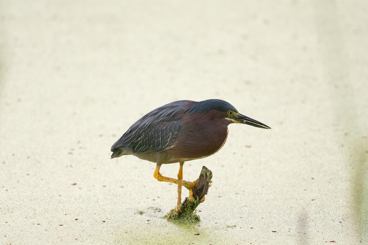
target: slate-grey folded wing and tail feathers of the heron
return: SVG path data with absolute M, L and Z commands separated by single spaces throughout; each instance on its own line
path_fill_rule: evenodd
M 175 143 L 183 127 L 182 115 L 188 100 L 163 105 L 135 122 L 111 147 L 112 158 L 122 150 L 137 152 L 164 151 Z

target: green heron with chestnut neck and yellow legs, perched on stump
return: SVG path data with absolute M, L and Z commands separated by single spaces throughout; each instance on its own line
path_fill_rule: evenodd
M 179 100 L 154 109 L 135 122 L 113 144 L 111 158 L 134 155 L 155 162 L 153 177 L 178 185 L 177 209 L 181 203 L 181 186 L 189 189 L 191 195 L 191 189 L 197 183 L 183 180 L 184 162 L 205 158 L 221 149 L 230 123 L 270 129 L 261 122 L 241 115 L 223 100 Z M 162 164 L 176 162 L 180 164 L 178 179 L 160 174 Z

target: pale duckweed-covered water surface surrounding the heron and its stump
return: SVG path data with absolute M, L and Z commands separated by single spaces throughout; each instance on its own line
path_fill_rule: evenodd
M 0 244 L 367 244 L 367 13 L 361 0 L 2 0 Z M 208 98 L 272 130 L 230 125 L 219 152 L 184 165 L 213 185 L 201 223 L 179 226 L 161 218 L 176 186 L 110 147 L 146 112 Z

